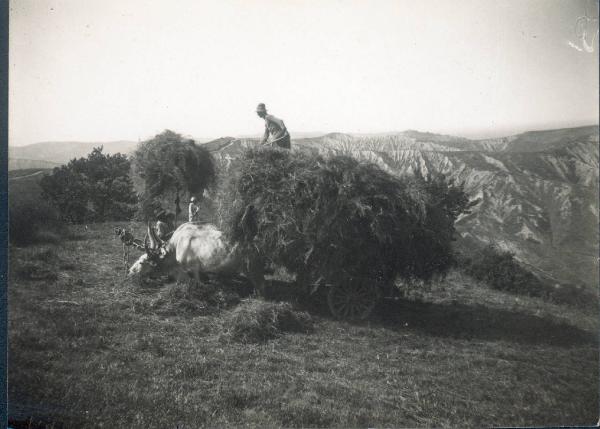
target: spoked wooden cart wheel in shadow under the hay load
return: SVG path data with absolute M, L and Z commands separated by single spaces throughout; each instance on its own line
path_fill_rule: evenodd
M 373 311 L 379 295 L 379 286 L 375 282 L 351 278 L 329 288 L 327 303 L 337 319 L 364 320 Z

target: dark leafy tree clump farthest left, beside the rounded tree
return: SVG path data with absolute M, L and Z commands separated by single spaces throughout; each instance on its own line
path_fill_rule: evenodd
M 130 169 L 125 155 L 94 148 L 87 158 L 73 159 L 45 176 L 42 195 L 70 222 L 130 219 L 137 202 Z

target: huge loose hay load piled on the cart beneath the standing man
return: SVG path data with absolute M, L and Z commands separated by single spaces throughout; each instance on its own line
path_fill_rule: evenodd
M 453 262 L 466 205 L 443 180 L 399 178 L 346 156 L 251 149 L 230 181 L 233 242 L 311 279 L 429 279 Z

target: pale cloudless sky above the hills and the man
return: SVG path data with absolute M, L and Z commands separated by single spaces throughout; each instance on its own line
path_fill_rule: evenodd
M 596 5 L 11 0 L 10 144 L 596 124 Z

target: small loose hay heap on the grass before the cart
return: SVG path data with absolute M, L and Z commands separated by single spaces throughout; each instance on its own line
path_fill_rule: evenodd
M 308 313 L 297 312 L 289 303 L 245 300 L 224 318 L 224 335 L 241 342 L 261 342 L 284 332 L 312 332 Z

